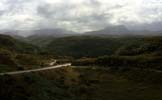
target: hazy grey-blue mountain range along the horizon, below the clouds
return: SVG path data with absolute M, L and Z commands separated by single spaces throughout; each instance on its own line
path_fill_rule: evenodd
M 124 25 L 108 26 L 97 31 L 90 31 L 84 33 L 77 33 L 65 29 L 38 29 L 38 30 L 1 30 L 0 33 L 12 36 L 25 36 L 32 39 L 40 37 L 65 37 L 74 35 L 162 35 L 162 31 L 148 31 L 148 30 L 130 30 Z

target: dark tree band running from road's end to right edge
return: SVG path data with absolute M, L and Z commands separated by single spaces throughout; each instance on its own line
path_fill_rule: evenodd
M 74 60 L 75 66 L 105 66 L 113 68 L 151 68 L 162 70 L 162 57 L 156 56 L 103 56 Z

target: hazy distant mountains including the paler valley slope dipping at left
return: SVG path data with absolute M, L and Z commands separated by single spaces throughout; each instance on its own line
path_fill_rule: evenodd
M 159 36 L 162 31 L 130 30 L 124 25 L 107 26 L 104 29 L 84 33 L 76 33 L 65 29 L 39 29 L 39 30 L 1 30 L 18 40 L 44 47 L 56 38 L 69 36 L 102 36 L 102 37 L 125 37 L 125 36 Z M 25 37 L 24 37 L 25 36 Z

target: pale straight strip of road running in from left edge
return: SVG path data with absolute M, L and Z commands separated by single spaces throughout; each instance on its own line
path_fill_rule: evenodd
M 0 73 L 0 75 L 15 75 L 15 74 L 30 73 L 30 72 L 38 72 L 38 71 L 50 70 L 50 69 L 66 67 L 66 66 L 71 66 L 71 63 L 55 65 L 55 66 L 50 66 L 50 67 L 37 68 L 37 69 L 23 70 L 23 71 L 5 72 L 5 73 Z

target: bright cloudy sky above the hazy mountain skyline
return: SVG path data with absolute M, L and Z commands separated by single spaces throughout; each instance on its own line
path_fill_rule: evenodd
M 1 30 L 84 32 L 110 25 L 160 30 L 162 0 L 0 0 Z

